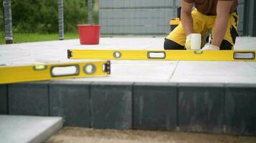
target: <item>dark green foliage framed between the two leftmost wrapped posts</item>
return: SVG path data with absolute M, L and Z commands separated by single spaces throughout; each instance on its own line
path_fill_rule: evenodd
M 58 27 L 58 4 L 47 0 L 12 0 L 12 24 L 14 32 L 51 33 Z M 57 15 L 56 15 L 57 14 Z M 57 26 L 56 26 L 57 25 Z

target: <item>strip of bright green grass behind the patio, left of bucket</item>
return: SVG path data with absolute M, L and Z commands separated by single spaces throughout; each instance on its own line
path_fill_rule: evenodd
M 78 34 L 66 33 L 65 39 L 78 39 Z M 33 41 L 52 41 L 58 40 L 58 34 L 13 34 L 14 43 L 26 43 Z M 5 44 L 4 33 L 0 32 L 0 44 Z

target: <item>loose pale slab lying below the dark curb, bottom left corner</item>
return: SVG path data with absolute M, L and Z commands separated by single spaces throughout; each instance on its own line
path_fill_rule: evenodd
M 0 115 L 0 142 L 45 142 L 62 127 L 60 117 Z

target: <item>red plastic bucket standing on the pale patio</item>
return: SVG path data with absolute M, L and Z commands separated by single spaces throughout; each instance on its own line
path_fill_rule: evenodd
M 78 25 L 78 33 L 80 44 L 99 44 L 101 26 L 80 24 Z

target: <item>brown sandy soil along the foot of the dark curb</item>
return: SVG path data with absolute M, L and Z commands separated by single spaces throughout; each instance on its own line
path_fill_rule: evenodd
M 239 137 L 219 134 L 198 134 L 183 132 L 88 129 L 64 127 L 50 137 L 47 143 L 99 142 L 99 143 L 255 143 L 256 137 Z

